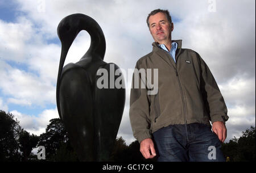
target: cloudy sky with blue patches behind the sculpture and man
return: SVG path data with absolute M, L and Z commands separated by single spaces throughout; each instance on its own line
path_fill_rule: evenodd
M 0 109 L 9 111 L 30 133 L 45 132 L 59 117 L 56 81 L 61 45 L 57 25 L 82 13 L 100 24 L 106 38 L 105 62 L 133 69 L 151 52 L 146 18 L 168 9 L 174 21 L 172 39 L 182 39 L 207 62 L 228 106 L 228 142 L 255 126 L 255 1 L 90 1 L 0 0 Z M 90 45 L 81 31 L 65 64 L 77 62 Z M 126 77 L 126 86 L 131 79 Z M 129 121 L 129 94 L 118 136 L 134 141 Z

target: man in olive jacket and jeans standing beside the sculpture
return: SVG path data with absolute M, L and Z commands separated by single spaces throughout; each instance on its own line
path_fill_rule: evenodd
M 168 10 L 152 11 L 147 25 L 155 42 L 135 69 L 158 69 L 158 93 L 148 95 L 149 88 L 141 87 L 147 81 L 139 75 L 142 82 L 139 88 L 131 88 L 129 113 L 143 157 L 225 161 L 220 147 L 229 117 L 208 66 L 198 53 L 181 48 L 181 40 L 171 40 L 174 24 Z

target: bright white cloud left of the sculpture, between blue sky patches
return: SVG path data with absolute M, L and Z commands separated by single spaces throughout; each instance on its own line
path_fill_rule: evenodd
M 56 102 L 55 87 L 42 81 L 36 74 L 14 68 L 0 71 L 0 77 L 4 81 L 0 83 L 0 88 L 6 95 L 38 106 Z

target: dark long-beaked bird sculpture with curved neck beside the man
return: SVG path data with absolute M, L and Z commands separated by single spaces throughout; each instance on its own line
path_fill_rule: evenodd
M 63 67 L 68 49 L 81 30 L 90 34 L 90 48 L 79 62 Z M 56 92 L 60 118 L 80 161 L 108 161 L 122 119 L 125 88 L 100 89 L 96 85 L 100 77 L 97 70 L 109 71 L 110 67 L 103 61 L 104 34 L 94 19 L 83 14 L 65 17 L 57 32 L 61 40 Z

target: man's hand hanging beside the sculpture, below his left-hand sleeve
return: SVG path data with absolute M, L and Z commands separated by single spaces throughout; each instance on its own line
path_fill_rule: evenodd
M 156 156 L 154 142 L 151 140 L 151 138 L 146 138 L 141 141 L 141 149 L 139 151 L 141 151 L 145 159 L 152 159 Z

